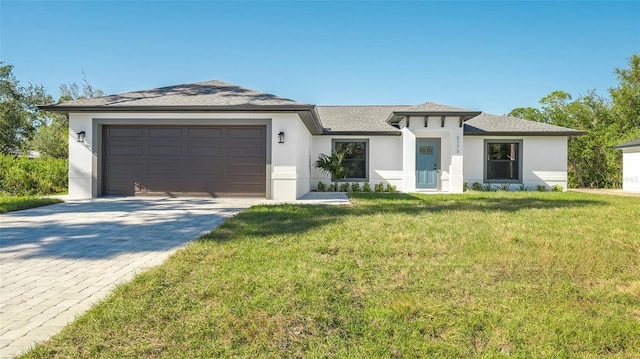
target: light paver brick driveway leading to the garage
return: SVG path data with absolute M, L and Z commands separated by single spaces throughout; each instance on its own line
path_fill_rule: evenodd
M 101 198 L 0 215 L 0 357 L 264 199 Z

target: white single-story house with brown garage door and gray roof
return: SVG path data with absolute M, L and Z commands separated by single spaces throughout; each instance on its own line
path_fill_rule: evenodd
M 69 196 L 296 199 L 348 148 L 346 181 L 401 192 L 567 187 L 568 128 L 431 102 L 316 106 L 208 81 L 41 106 L 69 117 Z

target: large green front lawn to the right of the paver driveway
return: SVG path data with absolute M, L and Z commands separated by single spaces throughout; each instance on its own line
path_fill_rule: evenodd
M 243 212 L 26 357 L 640 356 L 639 198 L 351 197 Z

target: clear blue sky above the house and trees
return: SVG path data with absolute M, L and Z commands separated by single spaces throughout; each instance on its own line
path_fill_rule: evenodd
M 504 114 L 616 85 L 640 1 L 7 1 L 0 60 L 55 97 L 218 79 L 318 105 Z

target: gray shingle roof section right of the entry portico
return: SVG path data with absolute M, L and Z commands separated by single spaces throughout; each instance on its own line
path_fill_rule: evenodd
M 515 117 L 481 113 L 464 124 L 465 135 L 579 136 L 584 132 Z

